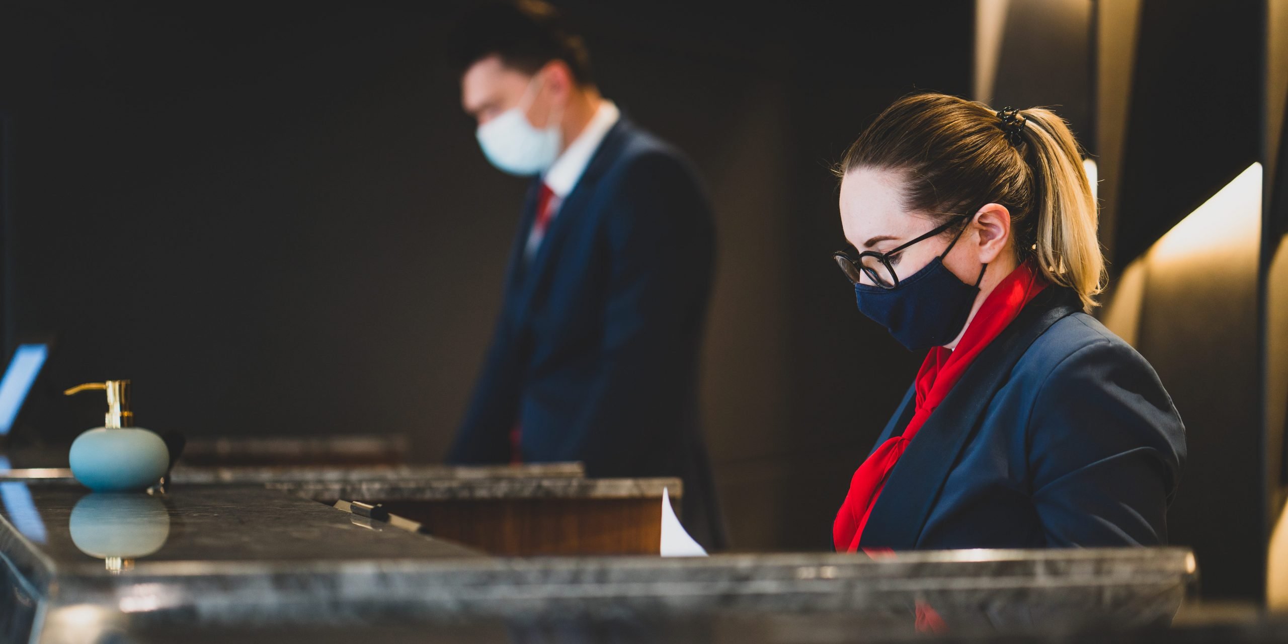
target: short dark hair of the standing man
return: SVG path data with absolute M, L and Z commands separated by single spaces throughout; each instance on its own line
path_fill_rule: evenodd
M 497 55 L 523 73 L 536 73 L 550 61 L 563 61 L 578 85 L 590 85 L 590 54 L 581 36 L 569 32 L 559 12 L 541 0 L 493 3 L 466 10 L 448 39 L 448 61 L 457 75 Z

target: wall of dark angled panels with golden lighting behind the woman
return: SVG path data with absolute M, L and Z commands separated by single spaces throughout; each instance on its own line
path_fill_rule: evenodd
M 1112 286 L 1100 314 L 1151 362 L 1185 420 L 1170 538 L 1194 547 L 1208 598 L 1264 596 L 1282 505 L 1288 263 L 1264 286 L 1279 202 L 1267 201 L 1264 233 L 1256 205 L 1225 205 L 1159 240 L 1255 161 L 1271 167 L 1285 76 L 1274 46 L 1283 18 L 1267 10 L 1279 4 L 979 1 L 976 52 L 988 55 L 976 58 L 976 91 L 997 106 L 1059 106 L 1099 165 Z

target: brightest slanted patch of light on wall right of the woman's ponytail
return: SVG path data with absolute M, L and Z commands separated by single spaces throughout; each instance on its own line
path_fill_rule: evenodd
M 1225 188 L 1158 240 L 1153 263 L 1194 259 L 1198 254 L 1247 252 L 1261 234 L 1261 164 L 1252 164 Z

